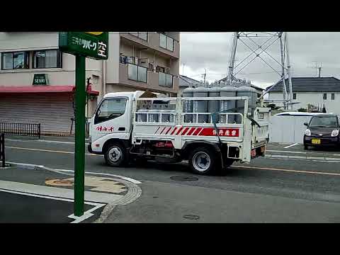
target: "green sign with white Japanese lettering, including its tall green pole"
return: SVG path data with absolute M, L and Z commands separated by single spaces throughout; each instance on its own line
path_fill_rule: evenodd
M 74 215 L 84 215 L 85 58 L 108 59 L 108 32 L 60 32 L 59 48 L 76 56 L 76 128 L 74 149 Z M 37 79 L 37 82 L 40 82 Z

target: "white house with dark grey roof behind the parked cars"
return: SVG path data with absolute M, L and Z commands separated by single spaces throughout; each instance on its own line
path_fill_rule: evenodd
M 273 100 L 276 106 L 283 106 L 276 100 L 283 100 L 282 81 L 268 92 L 268 101 Z M 285 79 L 286 88 L 289 94 L 288 79 Z M 327 113 L 340 115 L 340 80 L 334 77 L 294 77 L 292 78 L 293 87 L 293 110 L 305 108 L 322 109 L 325 106 Z M 271 86 L 267 88 L 270 89 Z M 297 103 L 298 102 L 298 103 Z

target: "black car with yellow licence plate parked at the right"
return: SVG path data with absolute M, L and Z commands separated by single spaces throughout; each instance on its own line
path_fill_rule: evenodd
M 308 146 L 340 146 L 339 118 L 336 115 L 315 115 L 310 119 L 303 137 L 305 149 Z

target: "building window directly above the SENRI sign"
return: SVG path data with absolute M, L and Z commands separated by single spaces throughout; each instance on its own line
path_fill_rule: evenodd
M 39 50 L 33 52 L 33 68 L 62 67 L 62 52 L 60 50 Z

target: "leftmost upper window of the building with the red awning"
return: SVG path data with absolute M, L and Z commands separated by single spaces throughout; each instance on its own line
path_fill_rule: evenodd
M 29 52 L 3 52 L 1 54 L 1 69 L 28 69 Z

